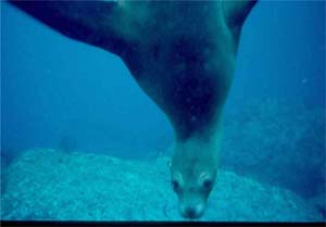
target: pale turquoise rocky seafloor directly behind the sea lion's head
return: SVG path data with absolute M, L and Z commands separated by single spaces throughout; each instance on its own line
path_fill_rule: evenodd
M 5 173 L 1 219 L 183 220 L 166 163 L 29 150 Z M 298 194 L 224 169 L 202 220 L 325 222 Z

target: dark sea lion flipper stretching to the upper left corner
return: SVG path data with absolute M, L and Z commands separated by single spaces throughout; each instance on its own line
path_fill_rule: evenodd
M 114 1 L 13 1 L 25 11 L 61 34 L 115 54 L 123 54 L 127 43 L 116 29 L 117 2 Z

